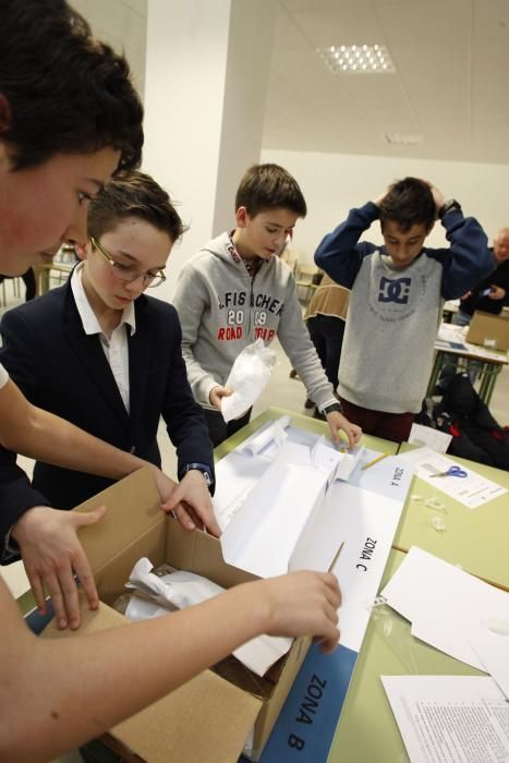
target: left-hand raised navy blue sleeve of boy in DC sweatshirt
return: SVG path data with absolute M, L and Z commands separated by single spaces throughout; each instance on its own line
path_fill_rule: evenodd
M 351 289 L 363 258 L 376 251 L 374 244 L 359 243 L 359 239 L 378 217 L 378 207 L 368 202 L 359 209 L 351 209 L 346 221 L 323 239 L 315 252 L 315 263 L 336 283 Z

